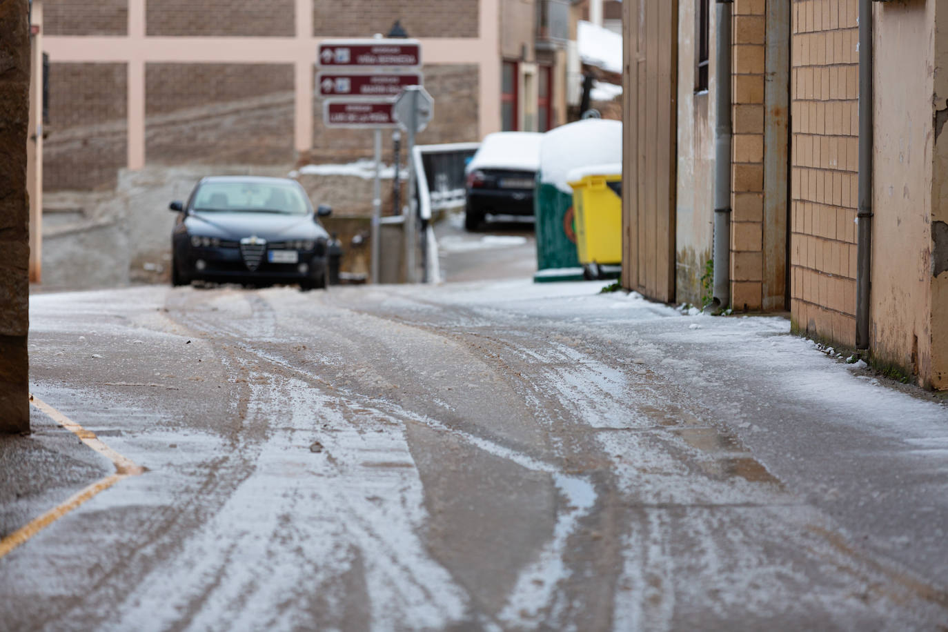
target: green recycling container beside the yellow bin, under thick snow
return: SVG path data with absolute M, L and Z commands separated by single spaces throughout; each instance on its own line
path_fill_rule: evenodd
M 537 183 L 534 195 L 537 229 L 537 282 L 582 280 L 576 252 L 573 196 L 556 185 Z

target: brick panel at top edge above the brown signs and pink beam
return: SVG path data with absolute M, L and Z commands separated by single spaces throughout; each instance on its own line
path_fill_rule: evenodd
M 313 0 L 313 33 L 371 37 L 395 20 L 410 37 L 477 37 L 479 0 Z

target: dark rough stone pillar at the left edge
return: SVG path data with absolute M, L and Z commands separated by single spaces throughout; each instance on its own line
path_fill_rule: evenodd
M 29 430 L 27 0 L 0 2 L 0 432 Z

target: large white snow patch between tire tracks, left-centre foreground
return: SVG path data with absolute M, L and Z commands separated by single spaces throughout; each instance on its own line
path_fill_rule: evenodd
M 271 401 L 272 388 L 254 387 L 255 406 Z M 202 592 L 207 599 L 193 629 L 291 629 L 299 622 L 283 613 L 304 608 L 284 606 L 322 594 L 333 611 L 343 596 L 327 588 L 356 563 L 372 597 L 374 629 L 406 621 L 434 629 L 461 620 L 467 597 L 418 534 L 426 520 L 424 490 L 401 424 L 378 422 L 367 432 L 367 419 L 387 416 L 372 411 L 354 424 L 336 397 L 300 380 L 278 388 L 290 395 L 292 413 L 262 446 L 253 475 L 183 543 L 176 559 L 186 564 L 155 569 L 136 588 L 128 602 L 135 607 L 113 629 L 173 627 L 188 595 Z M 273 412 L 260 407 L 250 414 Z M 292 524 L 287 515 L 295 516 Z M 221 566 L 235 556 L 241 564 Z

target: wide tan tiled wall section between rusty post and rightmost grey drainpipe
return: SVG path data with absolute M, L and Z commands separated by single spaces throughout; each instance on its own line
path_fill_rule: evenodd
M 857 0 L 793 2 L 791 311 L 800 333 L 855 344 Z

